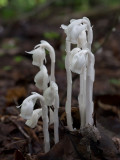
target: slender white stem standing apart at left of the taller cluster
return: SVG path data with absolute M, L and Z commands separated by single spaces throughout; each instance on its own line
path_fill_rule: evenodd
M 65 60 L 65 67 L 67 72 L 67 100 L 66 100 L 65 110 L 66 110 L 67 126 L 69 130 L 72 131 L 73 130 L 72 116 L 71 116 L 72 75 L 69 68 L 70 46 L 71 46 L 70 42 L 66 40 L 67 55 Z

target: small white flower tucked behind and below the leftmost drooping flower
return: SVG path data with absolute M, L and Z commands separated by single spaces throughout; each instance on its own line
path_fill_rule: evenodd
M 25 124 L 31 128 L 35 128 L 40 117 L 42 117 L 42 108 L 35 109 L 31 118 Z

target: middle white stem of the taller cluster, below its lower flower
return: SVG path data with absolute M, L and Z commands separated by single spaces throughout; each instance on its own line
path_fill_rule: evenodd
M 86 124 L 86 67 L 83 69 L 83 73 L 80 75 L 80 94 L 78 97 L 79 111 L 81 117 L 81 128 Z

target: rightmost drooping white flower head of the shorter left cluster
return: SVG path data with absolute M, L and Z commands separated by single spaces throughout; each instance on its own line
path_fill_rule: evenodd
M 57 94 L 58 86 L 55 82 L 51 81 L 50 87 L 48 87 L 43 94 L 47 106 L 52 106 L 55 104 L 55 97 Z

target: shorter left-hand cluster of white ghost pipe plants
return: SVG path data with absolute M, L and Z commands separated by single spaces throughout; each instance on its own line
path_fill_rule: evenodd
M 51 75 L 49 77 L 44 61 L 46 62 L 46 50 L 51 58 Z M 58 108 L 59 108 L 59 95 L 58 86 L 55 83 L 55 51 L 53 47 L 46 41 L 41 41 L 36 45 L 34 50 L 27 52 L 33 55 L 32 64 L 39 67 L 40 71 L 35 75 L 34 82 L 37 88 L 43 91 L 43 95 L 33 92 L 31 96 L 27 97 L 23 103 L 18 106 L 21 107 L 21 117 L 26 119 L 26 125 L 34 128 L 40 117 L 43 120 L 43 134 L 44 134 L 44 150 L 50 150 L 50 138 L 48 127 L 49 124 L 54 123 L 54 141 L 59 142 L 58 128 Z M 50 84 L 48 86 L 48 84 Z M 40 109 L 35 109 L 36 101 L 39 100 L 41 104 Z M 54 111 L 50 109 L 50 120 L 48 118 L 48 106 L 54 106 Z

